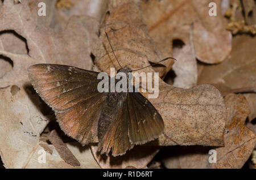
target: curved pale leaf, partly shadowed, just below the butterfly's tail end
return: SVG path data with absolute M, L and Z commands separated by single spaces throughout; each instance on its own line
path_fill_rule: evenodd
M 158 153 L 159 147 L 137 145 L 123 156 L 106 156 L 97 152 L 97 146 L 91 146 L 93 156 L 101 168 L 145 168 L 152 158 Z

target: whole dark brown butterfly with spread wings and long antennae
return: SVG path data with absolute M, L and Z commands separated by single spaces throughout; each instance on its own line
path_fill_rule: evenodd
M 131 69 L 118 71 L 128 74 Z M 32 85 L 54 110 L 61 129 L 82 145 L 98 136 L 98 151 L 118 156 L 158 138 L 164 123 L 150 101 L 139 92 L 98 92 L 98 73 L 53 64 L 28 68 Z

